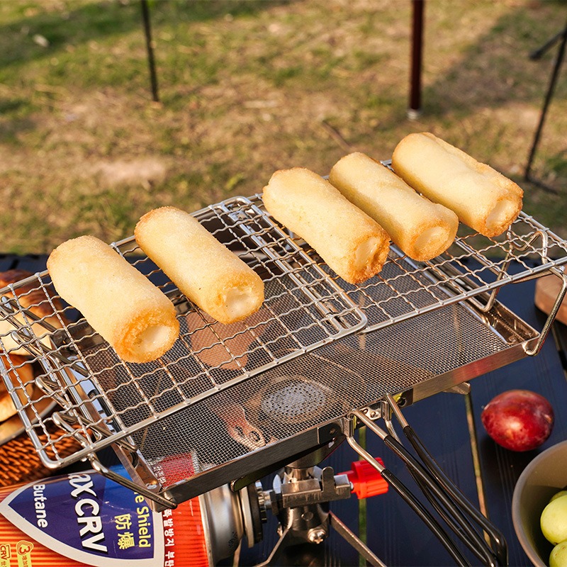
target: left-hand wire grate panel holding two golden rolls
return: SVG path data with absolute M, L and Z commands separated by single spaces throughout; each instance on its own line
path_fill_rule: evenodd
M 4 315 L 8 320 L 16 315 L 21 319 L 18 342 L 26 344 L 39 363 L 35 378 L 40 385 L 38 400 L 52 396 L 63 408 L 52 417 L 34 415 L 35 420 L 26 420 L 30 437 L 49 464 L 71 460 L 63 459 L 57 451 L 57 441 L 65 437 L 82 442 L 82 451 L 72 456 L 78 459 L 366 324 L 346 293 L 248 199 L 231 199 L 196 216 L 262 276 L 265 301 L 246 323 L 221 325 L 181 296 L 155 264 L 141 255 L 133 239 L 118 243 L 120 254 L 132 259 L 137 269 L 172 298 L 178 310 L 180 337 L 157 361 L 125 363 L 84 319 L 67 322 L 77 314 L 69 307 L 62 308 L 50 290 L 47 273 L 36 274 L 26 286 L 34 293 L 43 291 L 39 303 L 51 306 L 50 315 L 56 315 L 63 328 L 54 335 L 55 349 L 41 347 L 36 335 L 47 336 L 45 330 L 29 319 L 18 285 L 9 288 L 11 303 L 4 303 Z M 11 338 L 10 333 L 0 335 L 1 346 L 9 354 L 11 349 L 4 343 Z M 13 370 L 11 357 L 4 361 L 6 370 Z M 13 389 L 24 393 L 15 396 L 24 416 L 28 410 L 35 412 L 38 400 L 25 395 L 23 385 L 13 379 L 17 374 L 4 375 Z M 55 442 L 46 435 L 52 420 L 64 430 Z

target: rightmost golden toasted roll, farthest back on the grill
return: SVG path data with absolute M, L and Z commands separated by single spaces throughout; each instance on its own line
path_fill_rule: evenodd
M 517 184 L 433 134 L 403 138 L 392 165 L 408 185 L 482 235 L 502 234 L 522 210 L 524 192 Z

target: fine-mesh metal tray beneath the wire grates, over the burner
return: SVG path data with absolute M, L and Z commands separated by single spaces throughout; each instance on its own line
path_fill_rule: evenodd
M 184 490 L 191 494 L 193 478 L 203 476 L 206 485 L 211 471 L 223 467 L 218 478 L 230 481 L 249 471 L 247 459 L 270 447 L 274 450 L 260 459 L 264 466 L 293 455 L 302 447 L 305 432 L 371 405 L 386 393 L 428 383 L 430 393 L 436 393 L 487 371 L 498 355 L 522 357 L 522 342 L 537 337 L 537 332 L 518 324 L 501 305 L 494 309 L 502 323 L 499 328 L 456 303 L 418 319 L 344 337 L 183 410 L 135 439 L 164 488 L 189 480 Z M 464 375 L 455 377 L 461 369 L 466 369 Z M 206 435 L 196 424 L 206 424 Z M 216 480 L 210 477 L 211 483 Z

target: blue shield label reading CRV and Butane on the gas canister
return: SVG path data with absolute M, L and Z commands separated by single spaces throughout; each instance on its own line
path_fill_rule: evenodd
M 0 490 L 0 514 L 8 520 L 0 522 L 0 567 L 31 566 L 32 557 L 33 565 L 60 565 L 38 562 L 50 550 L 89 566 L 163 564 L 162 515 L 94 471 L 9 490 Z

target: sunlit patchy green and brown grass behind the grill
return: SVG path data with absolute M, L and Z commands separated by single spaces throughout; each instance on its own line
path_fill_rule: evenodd
M 567 236 L 565 73 L 534 162 L 557 193 L 522 179 L 554 50 L 527 55 L 561 27 L 561 2 L 427 3 L 416 121 L 409 1 L 150 8 L 159 104 L 138 1 L 0 2 L 1 252 L 49 252 L 85 232 L 120 240 L 150 208 L 257 193 L 283 167 L 325 174 L 349 150 L 388 158 L 417 130 L 520 181 L 525 210 Z M 131 163 L 161 167 L 101 174 Z

